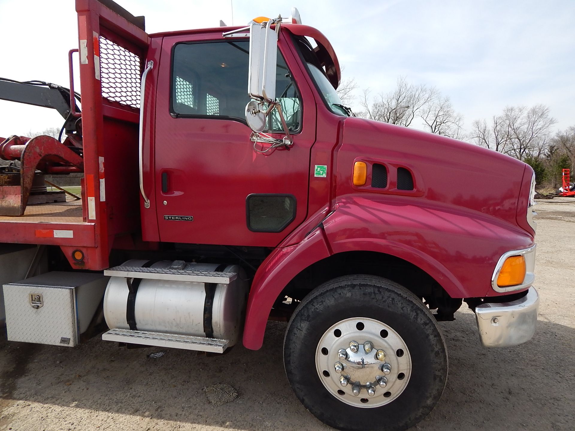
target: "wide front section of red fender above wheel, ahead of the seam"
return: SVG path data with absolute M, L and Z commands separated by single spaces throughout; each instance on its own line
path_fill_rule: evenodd
M 485 297 L 505 252 L 531 247 L 523 229 L 412 197 L 346 195 L 323 223 L 333 253 L 387 253 L 427 272 L 452 298 Z

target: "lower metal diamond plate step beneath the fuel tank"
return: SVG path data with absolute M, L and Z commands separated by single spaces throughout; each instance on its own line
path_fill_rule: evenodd
M 214 353 L 224 353 L 229 344 L 229 340 L 220 340 L 218 338 L 164 334 L 131 329 L 110 329 L 102 334 L 102 340 Z

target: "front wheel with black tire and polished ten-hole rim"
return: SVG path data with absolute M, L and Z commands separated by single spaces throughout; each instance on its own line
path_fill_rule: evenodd
M 370 275 L 310 293 L 283 344 L 287 378 L 320 421 L 340 430 L 405 430 L 438 402 L 447 352 L 430 311 L 404 287 Z

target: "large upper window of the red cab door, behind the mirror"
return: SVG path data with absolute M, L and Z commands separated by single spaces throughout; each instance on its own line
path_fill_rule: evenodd
M 179 43 L 174 47 L 171 110 L 179 116 L 236 118 L 245 121 L 249 41 Z M 301 128 L 301 98 L 278 51 L 276 97 L 290 132 Z M 282 130 L 277 111 L 269 130 Z

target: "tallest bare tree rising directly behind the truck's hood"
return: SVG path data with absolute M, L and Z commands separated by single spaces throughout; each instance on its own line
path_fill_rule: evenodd
M 373 101 L 370 90 L 363 91 L 360 102 L 363 116 L 371 120 L 383 121 L 409 127 L 420 111 L 436 101 L 439 92 L 435 87 L 425 84 L 411 84 L 404 76 L 397 79 L 396 88 L 390 93 L 379 93 Z

